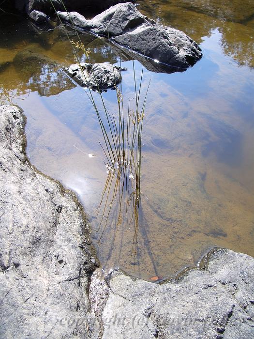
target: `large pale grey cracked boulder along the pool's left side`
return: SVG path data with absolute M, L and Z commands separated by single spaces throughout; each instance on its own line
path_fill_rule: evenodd
M 94 338 L 86 216 L 31 166 L 24 125 L 19 108 L 0 107 L 0 338 Z

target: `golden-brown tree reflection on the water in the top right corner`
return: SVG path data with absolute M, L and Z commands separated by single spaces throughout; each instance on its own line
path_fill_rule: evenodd
M 224 53 L 239 65 L 254 67 L 252 0 L 140 0 L 139 3 L 143 14 L 186 32 L 197 43 L 219 28 Z

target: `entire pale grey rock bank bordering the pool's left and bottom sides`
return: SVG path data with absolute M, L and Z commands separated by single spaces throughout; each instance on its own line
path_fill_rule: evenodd
M 0 108 L 1 338 L 253 338 L 254 259 L 209 253 L 158 285 L 98 260 L 75 194 L 29 162 L 25 116 Z

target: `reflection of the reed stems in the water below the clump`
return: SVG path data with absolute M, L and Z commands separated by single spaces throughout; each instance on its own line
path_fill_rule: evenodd
M 94 232 L 94 240 L 104 247 L 105 239 L 107 239 L 107 250 L 103 253 L 105 255 L 107 252 L 106 259 L 109 262 L 111 262 L 112 253 L 119 257 L 122 255 L 123 247 L 126 246 L 126 233 L 132 237 L 129 239 L 129 241 L 132 240 L 131 262 L 137 257 L 138 226 L 142 208 L 141 199 L 136 194 L 132 178 L 132 174 L 126 167 L 118 170 L 117 174 L 109 171 L 96 211 L 95 216 L 99 226 Z M 107 265 L 108 269 L 110 266 Z

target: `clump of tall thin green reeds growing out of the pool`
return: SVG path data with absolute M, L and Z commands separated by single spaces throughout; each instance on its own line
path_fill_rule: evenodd
M 73 40 L 70 39 L 70 36 L 68 34 L 68 31 L 66 30 L 65 26 L 63 25 L 60 16 L 58 15 L 56 8 L 54 7 L 54 4 L 52 0 L 50 0 L 51 5 L 53 9 L 56 12 L 56 15 L 63 26 L 66 35 L 68 37 L 68 40 L 70 41 L 73 51 L 74 51 L 74 57 L 79 65 L 82 75 L 84 79 L 86 80 L 86 74 L 84 72 L 84 69 L 81 66 L 81 62 L 79 61 L 78 54 L 76 51 L 76 48 L 81 49 L 84 54 L 86 55 L 86 58 L 88 62 L 90 62 L 90 57 L 89 57 L 89 50 L 85 48 L 84 44 L 82 43 L 80 36 L 75 28 L 75 25 L 73 23 L 73 20 L 71 16 L 69 15 L 64 3 L 61 1 L 61 4 L 64 8 L 64 10 L 67 12 L 68 18 L 70 20 L 70 23 L 76 33 L 78 42 L 74 42 Z M 109 51 L 110 51 L 110 58 L 111 58 L 111 64 L 113 66 L 113 75 L 114 75 L 114 81 L 115 81 L 115 88 L 116 88 L 116 99 L 117 99 L 117 106 L 118 106 L 118 113 L 115 115 L 113 112 L 108 112 L 106 106 L 105 106 L 105 101 L 102 95 L 102 91 L 100 90 L 97 79 L 93 73 L 92 69 L 92 74 L 95 80 L 95 83 L 97 85 L 97 91 L 100 96 L 100 100 L 102 102 L 103 106 L 103 112 L 105 115 L 106 123 L 104 122 L 105 120 L 103 119 L 103 115 L 100 112 L 99 108 L 96 105 L 95 99 L 93 97 L 93 93 L 88 86 L 88 92 L 86 94 L 88 95 L 90 102 L 95 109 L 96 115 L 98 117 L 98 121 L 102 130 L 104 142 L 105 142 L 105 147 L 101 144 L 99 141 L 103 152 L 106 157 L 106 167 L 108 169 L 109 175 L 112 175 L 112 178 L 107 179 L 105 189 L 103 192 L 103 196 L 106 193 L 106 190 L 108 190 L 107 195 L 106 195 L 106 203 L 103 211 L 103 215 L 105 213 L 106 205 L 109 199 L 109 191 L 112 187 L 112 179 L 113 177 L 116 178 L 116 183 L 114 185 L 114 192 L 113 192 L 113 200 L 117 196 L 117 191 L 119 190 L 119 198 L 120 198 L 120 209 L 121 209 L 121 200 L 123 197 L 123 192 L 124 192 L 124 186 L 125 186 L 125 202 L 126 202 L 126 215 L 127 215 L 127 204 L 129 201 L 128 198 L 128 192 L 130 187 L 134 189 L 134 192 L 132 193 L 133 199 L 133 207 L 134 207 L 134 218 L 135 218 L 135 224 L 137 224 L 137 218 L 138 218 L 138 207 L 139 207 L 139 199 L 141 195 L 141 190 L 140 190 L 140 178 L 141 178 L 141 159 L 142 159 L 142 154 L 141 154 L 141 148 L 142 148 L 142 129 L 143 129 L 143 119 L 144 119 L 144 112 L 145 112 L 145 103 L 146 103 L 146 98 L 147 98 L 147 93 L 149 90 L 149 85 L 147 88 L 147 91 L 145 93 L 145 98 L 143 101 L 143 104 L 141 105 L 141 109 L 139 109 L 140 106 L 140 95 L 141 95 L 141 87 L 142 87 L 142 80 L 143 80 L 143 71 L 144 71 L 144 62 L 142 64 L 142 71 L 141 71 L 141 78 L 140 78 L 140 83 L 137 85 L 136 81 L 136 73 L 135 73 L 135 68 L 134 68 L 134 60 L 132 60 L 132 65 L 133 65 L 133 75 L 134 75 L 134 91 L 135 91 L 135 108 L 134 110 L 131 109 L 130 107 L 130 102 L 131 99 L 128 101 L 128 109 L 125 111 L 125 105 L 124 105 L 124 96 L 122 93 L 122 83 L 120 82 L 119 88 L 117 87 L 116 83 L 116 76 L 115 76 L 115 67 L 113 65 L 113 53 L 112 53 L 112 48 L 111 48 L 111 41 L 110 41 L 110 36 L 109 36 L 109 31 L 108 31 L 108 22 L 107 22 L 107 14 L 105 11 L 106 15 L 106 27 L 107 27 L 107 35 L 108 35 L 108 41 L 109 41 Z M 131 44 L 131 33 L 130 33 L 130 46 Z M 75 48 L 76 47 L 76 48 Z M 133 53 L 133 50 L 131 48 L 131 52 Z M 120 58 L 120 72 L 121 72 L 121 58 Z M 149 82 L 150 84 L 150 82 Z M 109 130 L 109 132 L 107 132 Z M 134 174 L 133 174 L 134 173 Z M 135 182 L 134 187 L 133 187 L 133 180 Z M 103 198 L 102 198 L 103 200 Z M 109 211 L 107 215 L 107 219 L 111 210 L 112 202 L 109 204 Z M 100 205 L 102 204 L 102 201 Z M 119 217 L 119 220 L 121 218 Z M 104 228 L 105 230 L 105 228 Z M 135 228 L 136 230 L 136 228 Z

